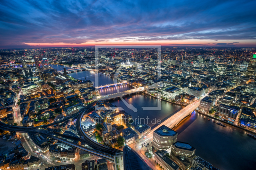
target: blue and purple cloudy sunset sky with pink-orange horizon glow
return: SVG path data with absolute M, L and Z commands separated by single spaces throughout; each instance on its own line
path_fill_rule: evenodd
M 256 47 L 256 1 L 0 1 L 0 48 Z

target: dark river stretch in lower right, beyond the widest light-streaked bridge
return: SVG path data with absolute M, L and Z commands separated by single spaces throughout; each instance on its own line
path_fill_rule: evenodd
M 256 165 L 256 140 L 242 129 L 228 124 L 222 127 L 204 119 L 204 115 L 192 114 L 173 130 L 177 141 L 187 142 L 196 148 L 196 155 L 221 170 L 254 170 Z

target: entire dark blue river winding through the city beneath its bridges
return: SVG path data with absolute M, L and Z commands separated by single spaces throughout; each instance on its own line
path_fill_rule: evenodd
M 52 65 L 53 68 L 60 66 Z M 61 66 L 62 67 L 62 66 Z M 70 68 L 68 68 L 70 69 Z M 79 71 L 68 74 L 74 78 L 82 78 L 95 82 L 95 73 L 90 71 Z M 83 78 L 85 80 L 85 78 Z M 99 75 L 99 85 L 112 84 L 113 79 L 104 75 Z M 119 91 L 128 90 L 127 85 L 119 86 Z M 101 95 L 116 92 L 115 87 L 99 90 Z M 143 93 L 123 97 L 125 102 L 132 104 L 137 111 L 129 109 L 121 99 L 110 100 L 110 103 L 123 108 L 132 118 L 148 119 L 148 125 L 154 127 L 154 121 L 164 121 L 172 116 L 183 106 L 174 105 L 161 101 L 160 110 L 143 110 L 142 107 L 157 107 L 158 99 Z M 256 166 L 256 140 L 247 136 L 242 129 L 227 125 L 226 128 L 213 123 L 211 119 L 204 119 L 203 115 L 197 113 L 188 116 L 178 127 L 174 128 L 178 132 L 178 141 L 187 142 L 196 148 L 196 155 L 210 162 L 213 166 L 221 170 L 255 170 Z

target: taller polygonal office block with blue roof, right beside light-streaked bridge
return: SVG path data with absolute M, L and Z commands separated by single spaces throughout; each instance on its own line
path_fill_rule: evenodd
M 177 140 L 178 133 L 163 125 L 153 134 L 153 146 L 156 150 L 167 150 Z

